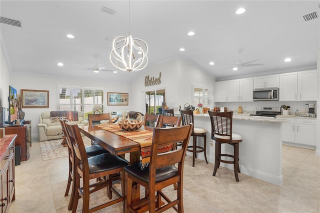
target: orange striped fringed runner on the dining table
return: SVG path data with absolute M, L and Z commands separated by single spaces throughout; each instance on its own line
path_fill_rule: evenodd
M 137 129 L 134 131 L 125 131 L 120 128 L 119 124 L 117 123 L 96 124 L 96 126 L 139 143 L 142 157 L 141 168 L 148 166 L 150 161 L 153 130 L 148 131 L 145 129 Z M 159 145 L 158 152 L 166 152 L 171 150 L 171 148 L 172 143 Z

